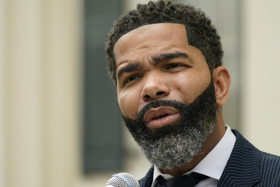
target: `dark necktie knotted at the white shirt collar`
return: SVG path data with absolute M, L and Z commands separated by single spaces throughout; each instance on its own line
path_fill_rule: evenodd
M 190 175 L 176 176 L 169 180 L 165 180 L 161 175 L 157 177 L 158 183 L 165 187 L 193 187 L 199 183 L 208 179 L 209 176 L 192 172 Z

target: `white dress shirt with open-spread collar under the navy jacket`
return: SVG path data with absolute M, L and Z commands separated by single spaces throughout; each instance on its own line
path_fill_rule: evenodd
M 189 175 L 191 172 L 197 172 L 209 176 L 208 179 L 200 181 L 195 187 L 216 187 L 220 180 L 236 140 L 230 127 L 228 125 L 225 126 L 227 129 L 218 144 L 192 170 L 183 174 Z M 165 179 L 173 178 L 173 176 L 169 174 L 162 174 L 162 172 L 154 166 L 153 183 L 151 187 L 157 187 L 157 177 L 159 175 L 163 176 Z

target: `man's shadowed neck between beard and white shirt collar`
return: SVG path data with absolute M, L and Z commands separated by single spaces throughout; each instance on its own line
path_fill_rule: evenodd
M 201 150 L 193 157 L 192 161 L 188 165 L 181 167 L 174 167 L 173 169 L 160 169 L 163 174 L 169 174 L 174 177 L 181 176 L 184 173 L 193 169 L 210 151 L 219 143 L 225 134 L 225 123 L 222 116 L 221 108 L 218 108 L 218 122 L 213 128 L 213 131 L 206 138 Z

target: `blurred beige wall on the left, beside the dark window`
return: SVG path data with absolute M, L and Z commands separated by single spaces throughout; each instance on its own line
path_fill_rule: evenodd
M 81 1 L 1 0 L 0 7 L 0 186 L 74 186 L 80 174 Z

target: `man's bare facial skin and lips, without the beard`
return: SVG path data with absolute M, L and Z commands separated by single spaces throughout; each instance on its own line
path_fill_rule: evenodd
M 118 103 L 125 117 L 136 120 L 150 101 L 176 100 L 192 103 L 211 81 L 201 51 L 188 45 L 185 26 L 158 23 L 139 27 L 115 44 Z M 153 119 L 157 115 L 167 115 Z M 178 110 L 159 107 L 144 116 L 150 129 L 180 118 Z

